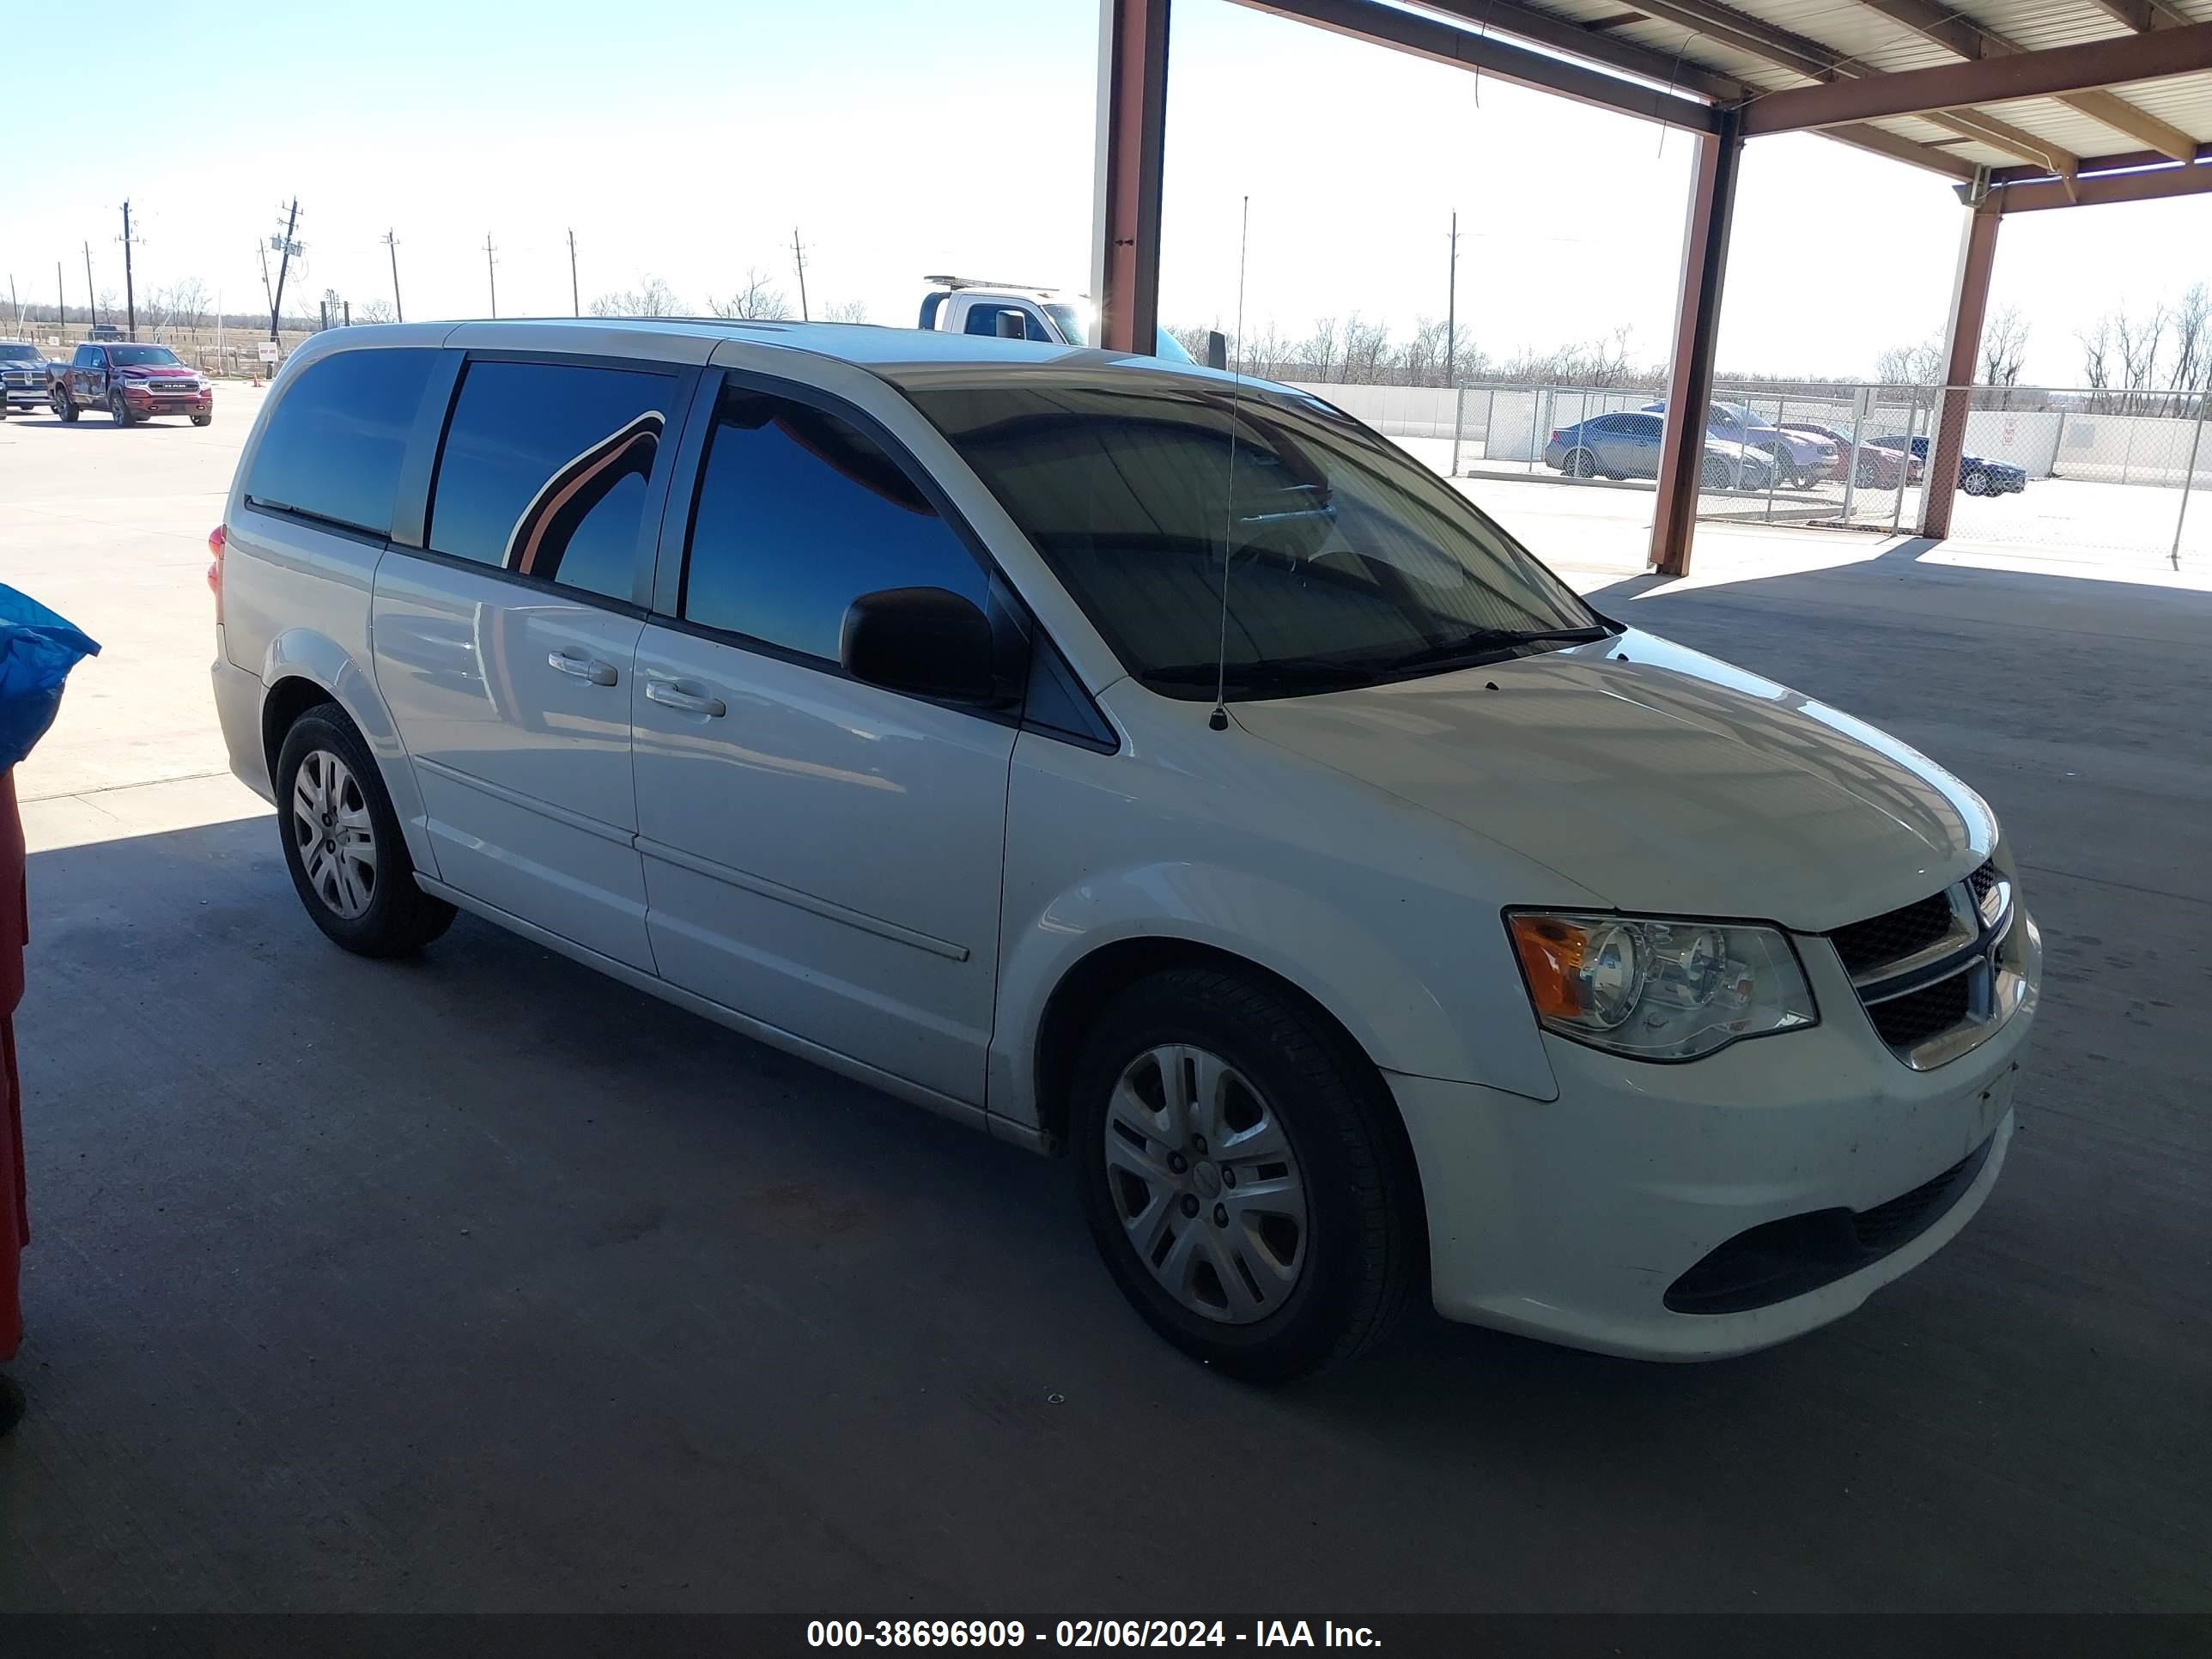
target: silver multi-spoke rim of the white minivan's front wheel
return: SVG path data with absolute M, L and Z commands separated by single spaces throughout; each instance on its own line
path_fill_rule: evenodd
M 1161 1044 L 1106 1104 L 1106 1181 L 1137 1259 L 1186 1310 L 1267 1318 L 1298 1287 L 1307 1199 L 1270 1102 L 1221 1055 Z

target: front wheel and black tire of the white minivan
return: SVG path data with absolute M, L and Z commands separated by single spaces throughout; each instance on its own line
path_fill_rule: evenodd
M 1084 1040 L 1068 1113 L 1106 1270 L 1155 1332 L 1245 1383 L 1354 1358 L 1427 1261 L 1391 1113 L 1367 1057 L 1272 982 L 1139 980 Z

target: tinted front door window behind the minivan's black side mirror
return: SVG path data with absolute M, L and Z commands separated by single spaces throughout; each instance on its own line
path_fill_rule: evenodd
M 949 588 L 980 608 L 989 577 L 907 469 L 849 420 L 763 392 L 723 394 L 681 615 L 836 661 L 847 606 L 883 588 Z

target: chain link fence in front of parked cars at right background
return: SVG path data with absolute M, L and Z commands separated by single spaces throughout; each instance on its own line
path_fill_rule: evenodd
M 1453 478 L 1655 489 L 1659 387 L 1314 385 Z M 2212 566 L 2212 396 L 2101 387 L 1721 380 L 1699 518 L 1913 533 L 1949 403 L 1964 403 L 1951 540 Z

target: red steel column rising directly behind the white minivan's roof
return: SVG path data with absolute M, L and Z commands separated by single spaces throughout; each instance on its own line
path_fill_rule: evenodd
M 1108 352 L 1155 352 L 1166 128 L 1168 0 L 1099 0 L 1091 296 Z

